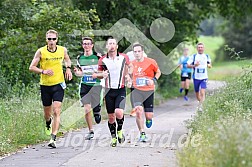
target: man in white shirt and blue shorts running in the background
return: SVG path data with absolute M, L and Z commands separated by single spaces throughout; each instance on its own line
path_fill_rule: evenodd
M 199 101 L 198 110 L 202 111 L 202 102 L 205 100 L 205 89 L 207 87 L 207 68 L 211 68 L 211 59 L 204 53 L 204 44 L 197 44 L 197 54 L 194 54 L 187 61 L 187 67 L 193 68 L 193 83 L 196 98 Z

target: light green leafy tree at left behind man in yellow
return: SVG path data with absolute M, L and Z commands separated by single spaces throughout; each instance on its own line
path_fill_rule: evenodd
M 1 2 L 0 27 L 0 70 L 11 85 L 23 87 L 38 75 L 28 71 L 29 64 L 39 47 L 45 45 L 45 32 L 55 29 L 59 32 L 60 45 L 66 46 L 70 57 L 75 58 L 81 47 L 81 35 L 85 29 L 92 29 L 99 19 L 95 10 L 70 10 L 55 7 L 46 2 L 33 0 L 6 0 Z M 91 21 L 92 20 L 92 21 Z M 78 50 L 78 51 L 77 51 Z

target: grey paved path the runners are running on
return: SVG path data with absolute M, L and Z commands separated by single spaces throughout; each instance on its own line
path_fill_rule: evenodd
M 209 89 L 223 85 L 209 82 Z M 47 143 L 18 151 L 0 160 L 2 166 L 104 166 L 104 167 L 175 167 L 176 151 L 187 142 L 185 121 L 195 113 L 197 102 L 190 94 L 189 102 L 182 97 L 171 99 L 156 106 L 153 126 L 146 130 L 148 141 L 139 143 L 135 118 L 125 116 L 126 141 L 111 148 L 107 121 L 95 125 L 95 138 L 84 140 L 87 128 L 69 132 L 57 141 L 57 149 Z

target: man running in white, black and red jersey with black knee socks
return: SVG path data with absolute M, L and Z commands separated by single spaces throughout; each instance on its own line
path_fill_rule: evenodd
M 116 147 L 117 136 L 119 143 L 125 141 L 122 130 L 126 99 L 125 78 L 130 63 L 126 54 L 117 52 L 118 44 L 116 39 L 110 37 L 107 40 L 106 48 L 108 52 L 99 59 L 98 70 L 102 72 L 102 76 L 99 77 L 105 78 L 105 103 L 109 119 L 108 127 L 112 137 L 111 146 Z

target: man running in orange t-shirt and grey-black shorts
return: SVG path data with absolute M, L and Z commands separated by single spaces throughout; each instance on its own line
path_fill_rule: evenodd
M 136 123 L 140 131 L 139 141 L 146 141 L 144 131 L 144 119 L 147 128 L 152 126 L 155 83 L 161 76 L 161 71 L 154 59 L 143 56 L 143 46 L 133 45 L 135 60 L 132 61 L 132 80 L 134 91 L 132 92 L 134 108 L 136 110 Z

